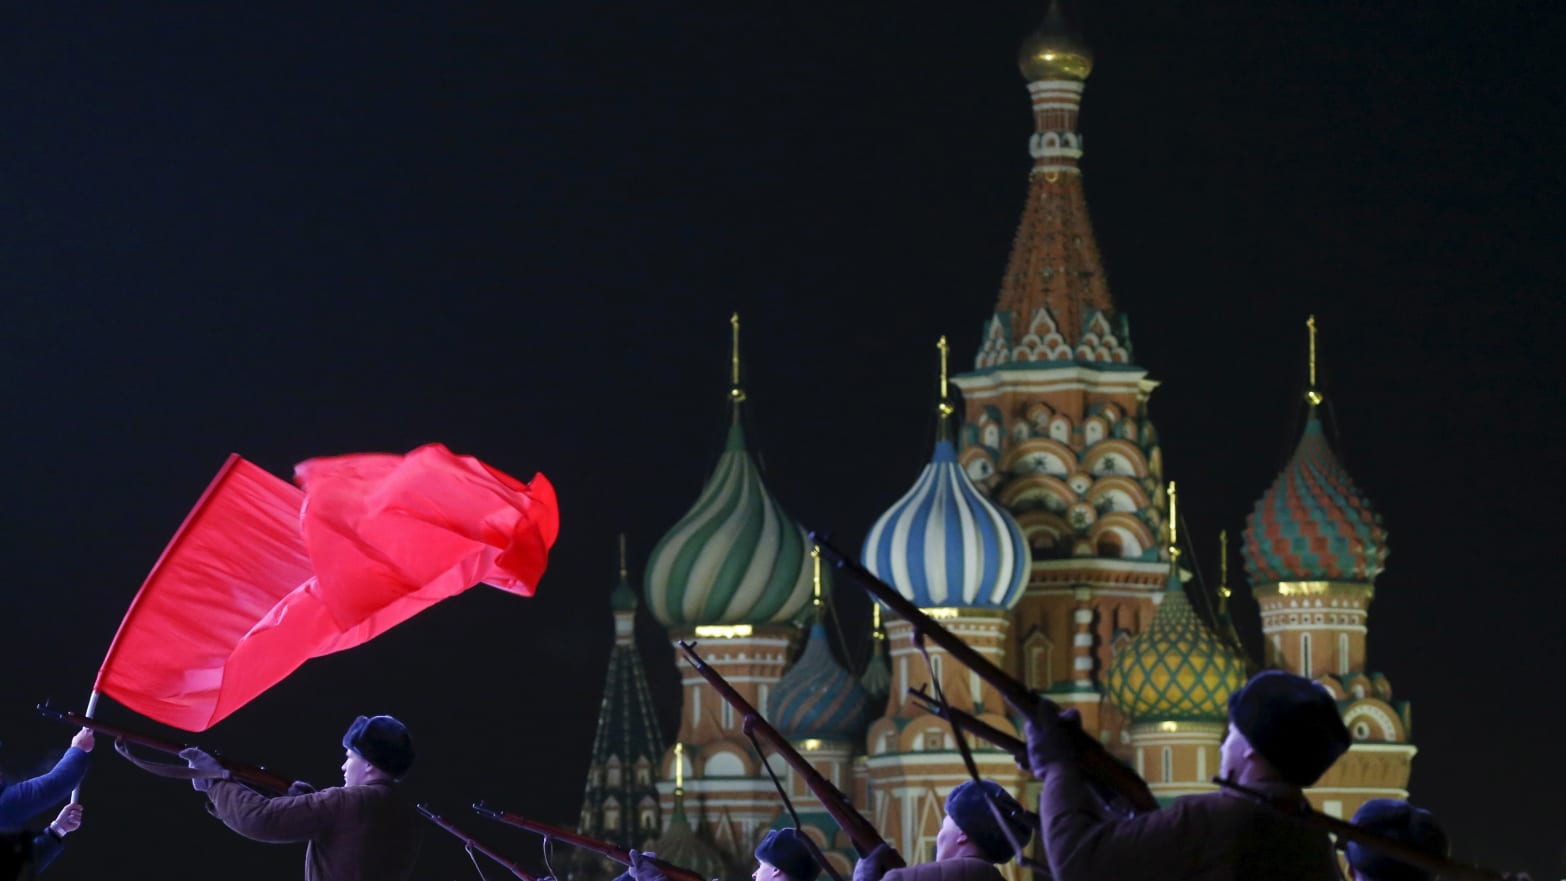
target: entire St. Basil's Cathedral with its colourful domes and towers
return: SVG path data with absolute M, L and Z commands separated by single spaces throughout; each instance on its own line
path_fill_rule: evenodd
M 1092 53 L 1059 5 L 1023 42 L 1019 67 L 1034 108 L 1034 164 L 979 355 L 949 377 L 965 410 L 958 423 L 943 340 L 930 460 L 869 524 L 860 560 L 1030 689 L 1076 707 L 1084 729 L 1160 801 L 1214 787 L 1228 696 L 1261 667 L 1325 685 L 1353 735 L 1308 790 L 1319 811 L 1347 818 L 1370 798 L 1406 798 L 1409 707 L 1392 699 L 1386 676 L 1364 668 L 1386 529 L 1326 441 L 1314 355 L 1303 437 L 1245 520 L 1240 554 L 1265 646 L 1265 657 L 1250 659 L 1228 617 L 1228 577 L 1209 598 L 1179 566 L 1178 496 L 1148 415 L 1157 382 L 1134 360 L 1082 188 L 1077 110 Z M 1314 325 L 1311 343 L 1314 352 Z M 944 796 L 968 771 L 949 725 L 910 689 L 933 674 L 952 707 L 1018 735 L 1021 720 L 941 649 L 930 646 L 926 659 L 910 626 L 880 609 L 866 668 L 838 660 L 844 653 L 832 651 L 824 618 L 830 566 L 769 493 L 745 444 L 741 413 L 764 407 L 764 394 L 752 404 L 741 383 L 738 318 L 731 366 L 723 452 L 648 556 L 640 599 L 622 549 L 615 643 L 578 831 L 738 881 L 766 831 L 794 823 L 741 720 L 678 653 L 680 726 L 664 742 L 634 645 L 645 602 L 672 642 L 697 642 L 706 663 L 908 862 L 929 861 Z M 982 776 L 1035 801 L 1035 781 L 1009 753 L 971 746 Z M 802 828 L 847 876 L 855 854 L 846 837 L 788 765 L 767 764 Z M 1019 878 L 1015 864 L 1001 868 Z M 583 861 L 570 875 L 612 872 Z

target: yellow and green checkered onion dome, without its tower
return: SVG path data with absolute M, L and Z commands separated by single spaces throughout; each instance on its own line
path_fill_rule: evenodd
M 1107 678 L 1109 699 L 1135 723 L 1223 721 L 1243 684 L 1245 660 L 1196 615 L 1174 571 L 1153 623 L 1115 653 Z

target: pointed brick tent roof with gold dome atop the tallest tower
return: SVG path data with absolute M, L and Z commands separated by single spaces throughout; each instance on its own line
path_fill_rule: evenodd
M 1093 53 L 1055 0 L 1019 50 L 1034 99 L 1027 203 L 1001 279 L 994 318 L 974 366 L 1077 361 L 1131 366 L 1126 321 L 1115 311 L 1082 191 L 1077 111 Z

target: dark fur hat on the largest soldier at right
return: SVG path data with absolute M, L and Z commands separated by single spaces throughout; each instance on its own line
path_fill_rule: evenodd
M 1311 786 L 1348 751 L 1333 695 L 1283 670 L 1262 670 L 1229 695 L 1229 723 L 1295 786 Z

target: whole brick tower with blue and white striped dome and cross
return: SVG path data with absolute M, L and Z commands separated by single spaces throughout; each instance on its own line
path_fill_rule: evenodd
M 1027 545 L 1004 509 L 972 485 L 951 440 L 954 408 L 946 397 L 946 340 L 941 338 L 940 433 L 918 482 L 886 510 L 864 540 L 861 560 L 976 651 L 1004 662 L 1007 612 L 1027 577 Z M 944 800 L 968 771 L 951 726 L 908 698 L 910 687 L 938 682 L 951 706 L 1002 731 L 1016 731 L 1001 695 L 966 667 L 930 646 L 930 660 L 913 645 L 902 620 L 886 624 L 891 692 L 885 715 L 866 737 L 866 817 L 908 862 L 935 856 Z M 980 776 L 1026 798 L 1027 775 L 1009 753 L 971 743 Z M 1013 881 L 1015 864 L 1001 867 Z

